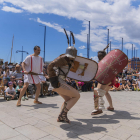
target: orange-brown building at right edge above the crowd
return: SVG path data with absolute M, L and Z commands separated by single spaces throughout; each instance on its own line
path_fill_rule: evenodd
M 128 60 L 128 68 L 139 69 L 140 70 L 140 58 L 132 58 Z

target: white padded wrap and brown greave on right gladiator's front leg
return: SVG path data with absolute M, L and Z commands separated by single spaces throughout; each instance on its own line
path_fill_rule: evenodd
M 95 88 L 94 89 L 94 110 L 92 112 L 96 112 L 99 109 L 103 110 L 105 109 L 104 107 L 104 100 L 103 96 L 105 95 L 106 91 L 102 89 Z

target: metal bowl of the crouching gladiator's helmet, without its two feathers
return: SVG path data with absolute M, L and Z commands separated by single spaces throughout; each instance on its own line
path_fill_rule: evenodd
M 68 48 L 66 49 L 65 55 L 67 57 L 76 58 L 76 56 L 77 56 L 76 48 L 74 46 L 68 46 Z

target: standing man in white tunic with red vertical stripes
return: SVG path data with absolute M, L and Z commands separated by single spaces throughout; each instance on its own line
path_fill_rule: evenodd
M 28 74 L 29 72 L 34 72 L 37 74 L 40 74 L 43 70 L 43 60 L 42 57 L 39 56 L 40 54 L 40 47 L 35 46 L 34 47 L 34 54 L 31 54 L 25 58 L 25 60 L 22 63 L 22 68 L 24 71 L 24 86 L 20 92 L 20 96 L 17 102 L 17 106 L 21 106 L 21 98 L 25 94 L 28 85 L 29 84 L 35 84 L 36 85 L 36 93 L 35 93 L 35 104 L 42 104 L 38 101 L 38 96 L 40 94 L 40 79 L 39 75 L 31 75 Z

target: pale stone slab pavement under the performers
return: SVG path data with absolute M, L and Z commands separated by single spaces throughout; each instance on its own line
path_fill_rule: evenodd
M 21 107 L 16 107 L 17 101 L 0 98 L 0 139 L 140 140 L 140 92 L 110 92 L 115 111 L 97 116 L 90 115 L 93 93 L 80 94 L 68 113 L 71 124 L 56 122 L 63 102 L 60 96 L 39 98 L 42 105 L 34 105 L 30 98 Z

